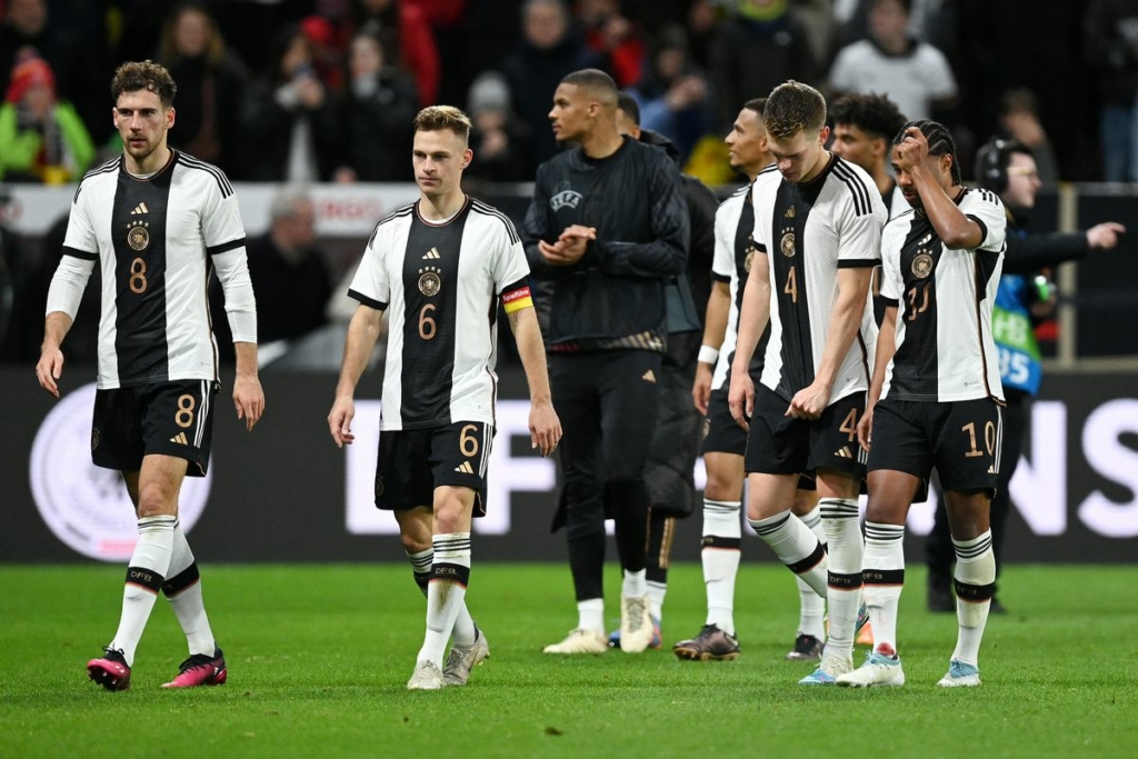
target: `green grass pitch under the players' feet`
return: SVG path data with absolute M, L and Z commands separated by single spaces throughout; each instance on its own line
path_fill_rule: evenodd
M 477 548 L 476 548 L 477 551 Z M 561 564 L 478 564 L 468 599 L 492 658 L 464 688 L 409 693 L 423 600 L 405 564 L 206 566 L 226 653 L 223 687 L 167 692 L 185 657 L 159 599 L 133 687 L 84 663 L 114 633 L 122 568 L 0 567 L 0 757 L 1132 757 L 1138 756 L 1133 567 L 1011 567 L 988 624 L 984 685 L 946 691 L 955 618 L 901 597 L 902 688 L 795 685 L 798 621 L 784 569 L 745 566 L 736 662 L 682 662 L 703 622 L 699 566 L 673 569 L 665 650 L 554 658 L 576 622 Z M 617 571 L 607 570 L 610 618 Z M 859 662 L 863 652 L 855 654 Z

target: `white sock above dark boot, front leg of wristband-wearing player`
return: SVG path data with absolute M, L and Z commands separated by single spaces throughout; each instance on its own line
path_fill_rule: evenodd
M 708 593 L 708 625 L 735 634 L 735 577 L 742 558 L 740 501 L 703 500 L 703 541 L 700 561 Z

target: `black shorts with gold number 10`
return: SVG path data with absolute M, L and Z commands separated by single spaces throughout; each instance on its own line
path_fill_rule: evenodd
M 868 470 L 918 478 L 917 503 L 927 500 L 933 467 L 946 490 L 995 495 L 1003 436 L 1003 413 L 991 398 L 932 403 L 887 396 L 873 410 Z

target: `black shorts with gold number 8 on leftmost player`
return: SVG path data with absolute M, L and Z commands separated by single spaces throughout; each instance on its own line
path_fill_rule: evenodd
M 143 456 L 176 456 L 188 477 L 205 477 L 217 389 L 213 380 L 174 380 L 96 390 L 91 460 L 137 472 Z

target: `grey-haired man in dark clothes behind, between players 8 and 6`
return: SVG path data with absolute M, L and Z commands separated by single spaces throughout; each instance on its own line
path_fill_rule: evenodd
M 296 340 L 327 323 L 332 295 L 331 274 L 315 246 L 316 215 L 308 193 L 281 188 L 269 208 L 270 228 L 249 240 L 249 278 L 257 294 L 257 338 L 264 345 Z M 211 284 L 213 313 L 222 313 L 221 283 Z M 218 341 L 231 338 L 225 320 L 214 324 Z

